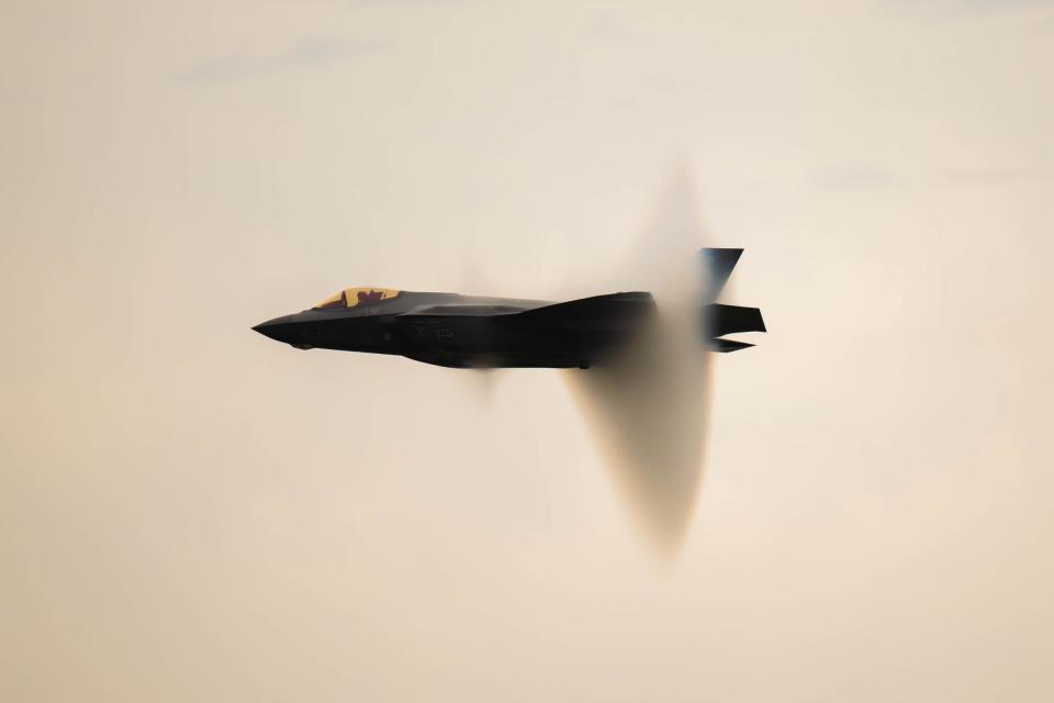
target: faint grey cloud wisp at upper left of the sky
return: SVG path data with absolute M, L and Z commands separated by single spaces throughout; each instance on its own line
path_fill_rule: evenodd
M 243 49 L 210 58 L 192 66 L 181 77 L 191 81 L 234 80 L 299 67 L 323 66 L 371 54 L 378 48 L 379 45 L 372 42 L 304 37 L 277 54 L 255 55 Z

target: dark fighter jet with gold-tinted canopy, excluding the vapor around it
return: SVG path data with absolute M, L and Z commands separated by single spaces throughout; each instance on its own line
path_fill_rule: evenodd
M 766 331 L 759 309 L 715 302 L 742 252 L 699 252 L 707 282 L 699 334 L 715 352 L 753 346 L 727 334 Z M 253 328 L 298 349 L 400 355 L 449 368 L 587 369 L 612 359 L 655 313 L 649 292 L 552 302 L 366 287 Z

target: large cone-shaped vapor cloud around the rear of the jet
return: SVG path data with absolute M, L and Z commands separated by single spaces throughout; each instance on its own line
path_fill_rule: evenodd
M 669 180 L 620 280 L 659 315 L 609 364 L 567 371 L 612 478 L 662 556 L 684 543 L 703 478 L 709 353 L 700 330 L 703 232 L 684 169 Z

